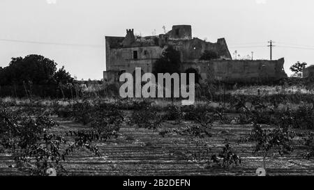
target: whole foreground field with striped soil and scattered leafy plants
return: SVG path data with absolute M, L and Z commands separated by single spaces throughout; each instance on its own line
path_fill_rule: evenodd
M 314 175 L 313 105 L 245 104 L 1 104 L 0 175 Z

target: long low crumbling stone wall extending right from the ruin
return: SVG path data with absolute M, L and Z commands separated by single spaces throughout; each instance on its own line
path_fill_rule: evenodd
M 267 60 L 213 60 L 184 63 L 183 70 L 195 68 L 202 80 L 255 83 L 276 81 L 287 77 L 283 70 L 284 58 Z

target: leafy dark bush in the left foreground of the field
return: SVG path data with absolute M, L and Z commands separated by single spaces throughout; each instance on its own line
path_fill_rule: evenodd
M 30 175 L 47 175 L 48 168 L 55 168 L 59 175 L 66 175 L 62 166 L 66 156 L 75 148 L 88 148 L 98 154 L 97 148 L 87 139 L 75 138 L 67 144 L 66 138 L 50 133 L 58 124 L 47 113 L 0 108 L 0 145 L 12 154 L 15 167 Z

